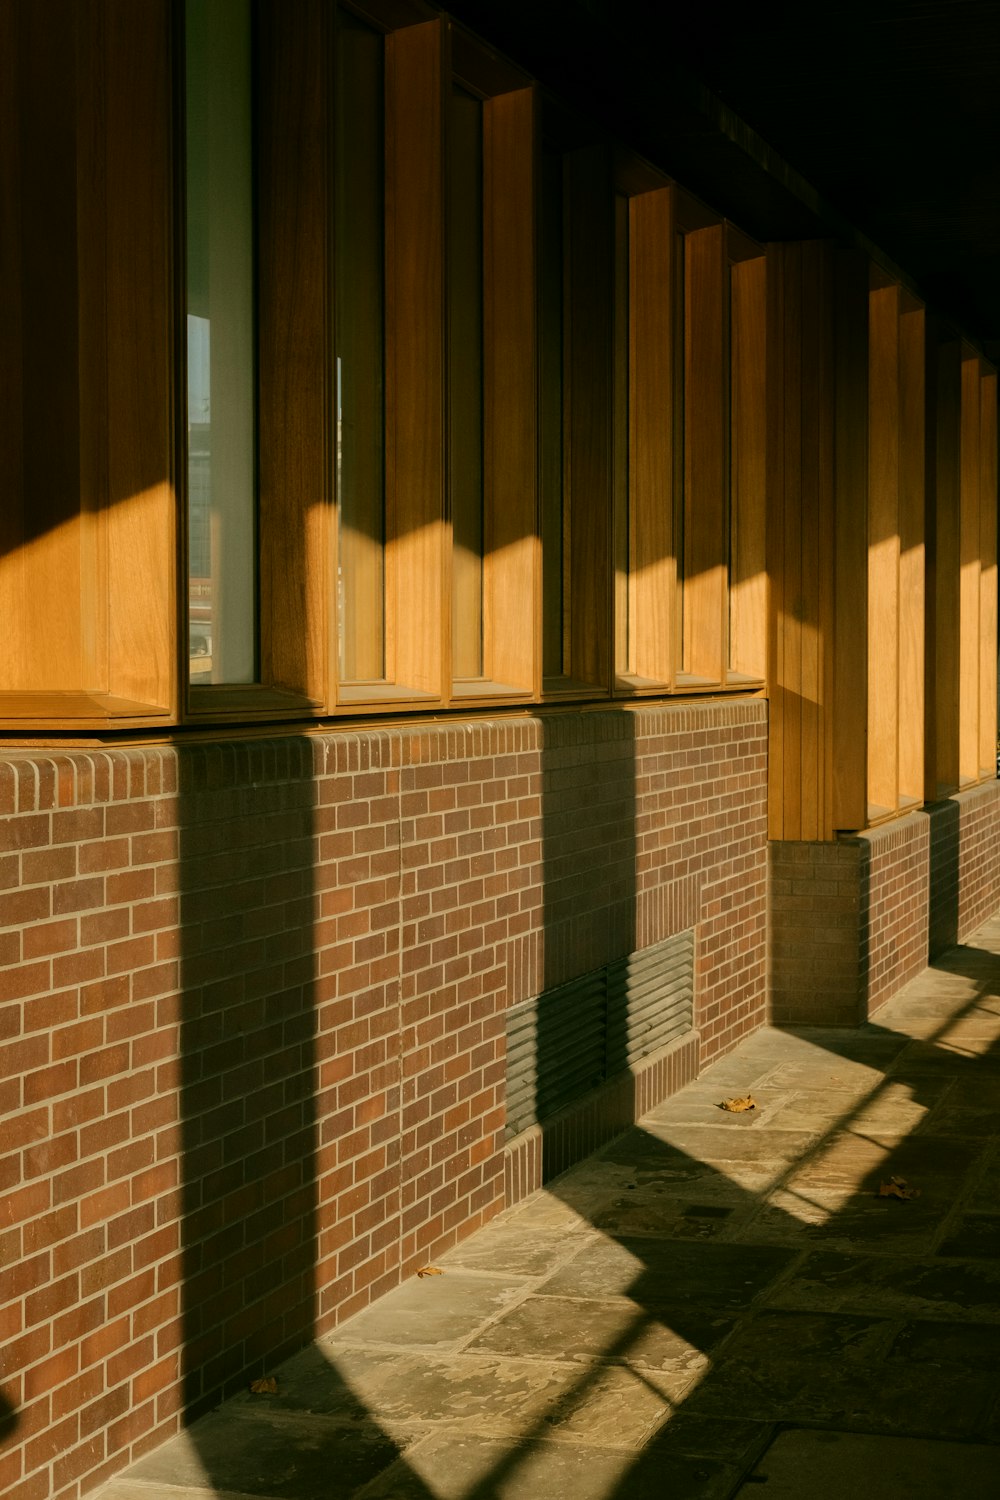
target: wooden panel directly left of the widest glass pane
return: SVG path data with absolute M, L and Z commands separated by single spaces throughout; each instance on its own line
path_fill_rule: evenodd
M 112 693 L 177 705 L 171 6 L 105 4 L 108 668 Z M 99 404 L 91 420 L 100 422 Z

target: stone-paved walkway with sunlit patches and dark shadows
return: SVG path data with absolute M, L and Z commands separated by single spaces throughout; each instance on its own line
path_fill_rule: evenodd
M 999 1130 L 996 920 L 861 1030 L 751 1036 L 102 1500 L 996 1500 Z

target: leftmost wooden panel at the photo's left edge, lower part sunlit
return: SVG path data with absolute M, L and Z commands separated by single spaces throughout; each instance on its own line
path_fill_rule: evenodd
M 76 285 L 76 78 L 84 18 L 72 4 L 13 6 L 4 70 L 4 412 L 13 472 L 0 522 L 0 684 L 79 688 L 79 328 Z M 16 237 L 15 237 L 16 236 Z M 12 296 L 10 296 L 12 292 Z M 10 312 L 7 314 L 7 308 Z M 4 381 L 6 382 L 6 381 Z M 6 470 L 4 448 L 4 470 Z

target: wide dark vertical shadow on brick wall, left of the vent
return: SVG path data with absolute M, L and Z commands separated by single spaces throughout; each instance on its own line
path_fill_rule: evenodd
M 316 1262 L 309 741 L 178 756 L 184 1407 L 312 1338 Z

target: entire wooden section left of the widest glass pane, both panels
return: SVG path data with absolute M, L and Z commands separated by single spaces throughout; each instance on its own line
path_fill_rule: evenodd
M 0 27 L 16 285 L 0 717 L 13 692 L 57 726 L 162 722 L 177 711 L 169 9 L 57 0 L 4 8 Z

